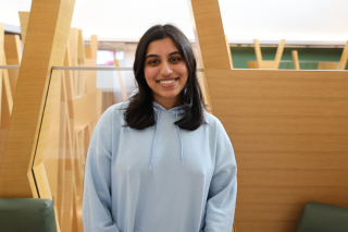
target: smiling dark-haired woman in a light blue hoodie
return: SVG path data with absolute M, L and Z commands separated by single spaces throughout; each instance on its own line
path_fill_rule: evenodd
M 231 232 L 236 161 L 203 111 L 188 39 L 172 25 L 151 27 L 134 72 L 138 89 L 103 113 L 90 139 L 85 232 Z

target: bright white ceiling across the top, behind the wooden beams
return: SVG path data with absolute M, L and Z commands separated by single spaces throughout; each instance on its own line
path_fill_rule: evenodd
M 0 22 L 20 25 L 17 11 L 30 0 L 0 0 Z M 348 0 L 220 0 L 231 42 L 344 44 L 348 40 Z M 187 0 L 76 0 L 72 27 L 100 40 L 136 41 L 153 24 L 173 23 L 189 39 L 194 32 Z

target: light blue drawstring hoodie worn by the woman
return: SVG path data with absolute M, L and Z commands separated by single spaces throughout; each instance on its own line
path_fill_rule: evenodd
M 85 232 L 231 232 L 237 167 L 213 115 L 196 131 L 174 124 L 181 107 L 153 102 L 157 124 L 124 127 L 124 103 L 110 107 L 90 139 Z

